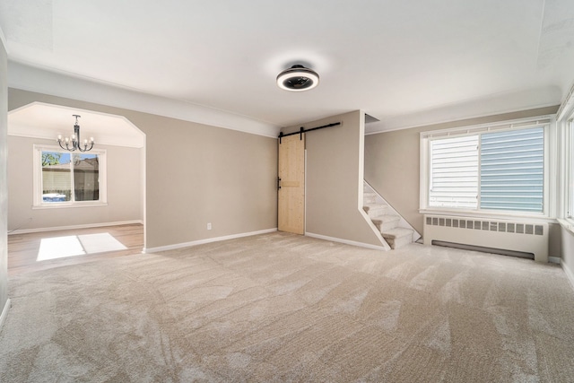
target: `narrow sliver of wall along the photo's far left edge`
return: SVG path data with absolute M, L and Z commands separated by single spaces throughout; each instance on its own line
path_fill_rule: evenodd
M 6 186 L 8 150 L 6 143 L 8 135 L 7 65 L 6 49 L 2 39 L 0 39 L 0 314 L 2 314 L 8 300 L 8 219 L 6 216 L 6 211 L 8 210 L 8 187 Z

